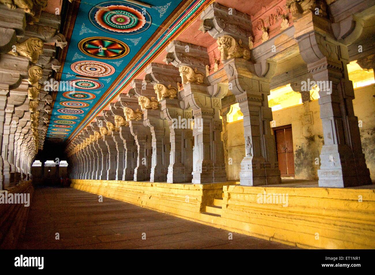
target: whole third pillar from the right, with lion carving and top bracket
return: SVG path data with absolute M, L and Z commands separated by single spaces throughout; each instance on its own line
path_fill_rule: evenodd
M 189 51 L 186 52 L 186 48 Z M 206 48 L 174 40 L 167 46 L 166 51 L 166 63 L 178 67 L 180 72 L 183 85 L 181 97 L 186 106 L 193 110 L 192 182 L 224 182 L 226 172 L 219 112 L 221 99 L 228 90 L 222 89 L 217 82 L 208 82 L 202 73 L 209 62 Z

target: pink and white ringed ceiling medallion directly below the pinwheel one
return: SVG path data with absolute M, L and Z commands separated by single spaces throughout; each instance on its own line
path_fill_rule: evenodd
M 72 63 L 71 69 L 73 72 L 85 76 L 94 77 L 105 77 L 113 75 L 115 68 L 110 64 L 100 62 L 100 61 L 77 61 Z

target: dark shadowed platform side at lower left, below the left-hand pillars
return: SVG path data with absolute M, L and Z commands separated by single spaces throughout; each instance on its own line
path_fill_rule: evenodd
M 28 193 L 30 203 L 33 199 L 34 187 L 31 181 L 24 181 L 9 188 L 8 193 Z M 5 192 L 5 191 L 4 191 Z M 25 233 L 30 206 L 23 204 L 0 204 L 0 248 L 15 249 L 20 237 Z

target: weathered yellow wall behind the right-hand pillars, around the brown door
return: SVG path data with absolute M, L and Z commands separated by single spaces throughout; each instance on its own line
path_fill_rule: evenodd
M 362 148 L 371 179 L 375 179 L 375 85 L 356 89 L 354 113 L 362 121 L 360 128 Z M 318 179 L 319 158 L 323 140 L 318 100 L 272 112 L 273 127 L 291 124 L 293 131 L 294 166 L 296 179 Z M 243 120 L 228 123 L 226 171 L 228 180 L 238 181 L 241 161 L 245 155 Z M 229 164 L 230 161 L 232 164 Z

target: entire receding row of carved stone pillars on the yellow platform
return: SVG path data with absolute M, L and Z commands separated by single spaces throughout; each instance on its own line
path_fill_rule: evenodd
M 252 59 L 247 42 L 252 32 L 250 16 L 238 11 L 229 16 L 227 11 L 227 7 L 211 4 L 202 13 L 199 28 L 216 40 L 222 68 L 206 75 L 207 48 L 171 41 L 166 47 L 167 65 L 148 65 L 144 79 L 133 80 L 129 92 L 120 94 L 70 143 L 73 178 L 226 181 L 220 115 L 225 115 L 221 100 L 230 90 L 243 113 L 245 157 L 240 184 L 281 183 L 267 100 L 276 61 Z M 332 24 L 326 14 L 315 15 L 308 9 L 292 12 L 294 38 L 309 73 L 315 81 L 332 83 L 329 92 L 319 92 L 324 135 L 319 185 L 370 184 L 353 111 L 347 46 L 329 28 L 324 35 L 320 33 L 321 26 Z M 192 129 L 173 123 L 188 118 L 194 119 Z

